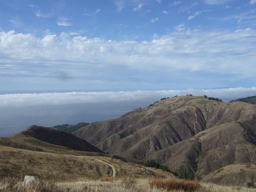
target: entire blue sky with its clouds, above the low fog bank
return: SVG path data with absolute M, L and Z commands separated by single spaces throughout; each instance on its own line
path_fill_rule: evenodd
M 253 87 L 256 0 L 0 0 L 0 90 Z

